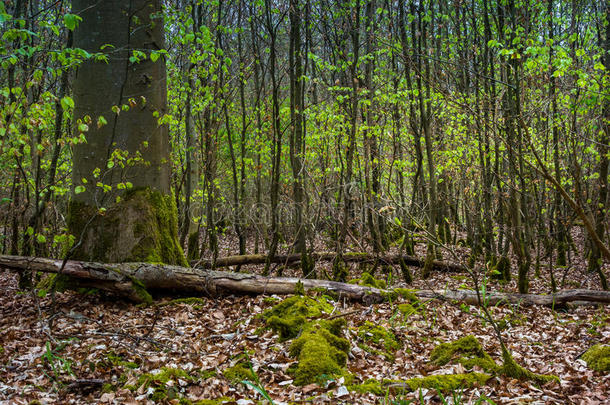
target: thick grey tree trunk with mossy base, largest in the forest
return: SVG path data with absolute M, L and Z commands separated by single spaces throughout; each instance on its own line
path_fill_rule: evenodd
M 165 61 L 149 59 L 165 47 L 161 2 L 75 0 L 72 7 L 83 18 L 74 46 L 104 47 L 107 57 L 83 62 L 74 79 L 75 128 L 87 142 L 74 148 L 72 256 L 184 264 L 168 130 L 158 123 L 166 113 Z

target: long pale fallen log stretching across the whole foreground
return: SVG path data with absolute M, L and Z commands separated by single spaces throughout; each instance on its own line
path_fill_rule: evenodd
M 12 271 L 60 273 L 78 279 L 79 284 L 120 294 L 133 301 L 146 301 L 146 290 L 165 290 L 181 294 L 220 296 L 227 294 L 293 294 L 299 283 L 305 291 L 316 289 L 333 292 L 339 297 L 365 303 L 381 302 L 391 291 L 356 284 L 296 277 L 263 277 L 255 274 L 202 270 L 165 264 L 105 264 L 26 256 L 0 256 L 0 268 Z M 478 305 L 476 291 L 417 290 L 424 299 L 441 299 Z M 561 305 L 569 302 L 610 304 L 609 291 L 563 290 L 552 295 L 487 293 L 482 297 L 488 305 Z

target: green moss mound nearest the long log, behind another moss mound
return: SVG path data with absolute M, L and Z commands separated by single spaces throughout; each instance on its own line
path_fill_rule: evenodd
M 280 341 L 295 338 L 304 329 L 309 319 L 330 313 L 333 306 L 324 297 L 314 299 L 307 296 L 289 297 L 263 313 L 268 327 L 279 336 Z

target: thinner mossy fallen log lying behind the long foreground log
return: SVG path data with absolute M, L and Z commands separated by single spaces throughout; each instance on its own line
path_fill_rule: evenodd
M 369 253 L 363 252 L 347 252 L 343 255 L 343 260 L 348 263 L 379 263 L 388 265 L 399 265 L 401 260 L 407 266 L 423 267 L 425 259 L 420 259 L 415 256 L 409 255 L 386 255 L 386 256 L 375 256 Z M 311 258 L 316 262 L 332 262 L 337 257 L 335 252 L 313 252 Z M 252 255 L 236 255 L 220 257 L 216 259 L 214 263 L 212 260 L 194 260 L 190 264 L 193 267 L 200 269 L 211 269 L 214 266 L 216 268 L 229 267 L 229 266 L 243 266 L 248 264 L 265 264 L 267 261 L 267 255 L 263 254 L 252 254 Z M 275 264 L 295 264 L 301 261 L 300 254 L 291 255 L 276 255 L 271 258 L 271 263 Z M 436 271 L 451 272 L 451 273 L 465 273 L 467 268 L 454 263 L 443 262 L 439 260 L 432 261 L 432 269 Z

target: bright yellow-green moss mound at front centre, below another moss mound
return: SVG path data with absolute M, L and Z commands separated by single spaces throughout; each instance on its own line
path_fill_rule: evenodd
M 346 375 L 349 342 L 341 337 L 344 319 L 309 322 L 290 346 L 290 355 L 298 359 L 289 371 L 296 385 L 322 383 L 325 379 Z

